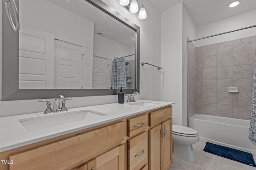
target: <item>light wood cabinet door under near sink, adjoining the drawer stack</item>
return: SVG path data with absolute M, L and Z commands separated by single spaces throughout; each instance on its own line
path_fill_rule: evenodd
M 124 170 L 124 144 L 87 162 L 87 170 Z

